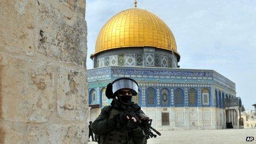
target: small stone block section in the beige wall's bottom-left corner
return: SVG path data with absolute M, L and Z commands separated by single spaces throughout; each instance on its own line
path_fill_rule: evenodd
M 23 143 L 23 134 L 0 124 L 0 143 Z

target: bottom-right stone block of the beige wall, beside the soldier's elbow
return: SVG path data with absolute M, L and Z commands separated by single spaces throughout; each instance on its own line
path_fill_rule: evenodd
M 52 124 L 29 129 L 28 143 L 88 143 L 87 124 Z

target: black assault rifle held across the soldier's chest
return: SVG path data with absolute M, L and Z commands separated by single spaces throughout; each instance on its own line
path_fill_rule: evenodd
M 114 98 L 111 105 L 113 105 L 114 108 L 124 110 L 124 113 L 127 114 L 129 118 L 134 117 L 137 120 L 138 125 L 140 125 L 141 129 L 145 132 L 147 138 L 157 137 L 157 135 L 161 136 L 161 133 L 151 126 L 152 119 L 146 116 L 144 116 L 145 118 L 142 118 L 141 107 L 137 104 L 130 102 L 128 105 L 124 105 Z M 151 130 L 156 132 L 157 135 L 153 134 Z

